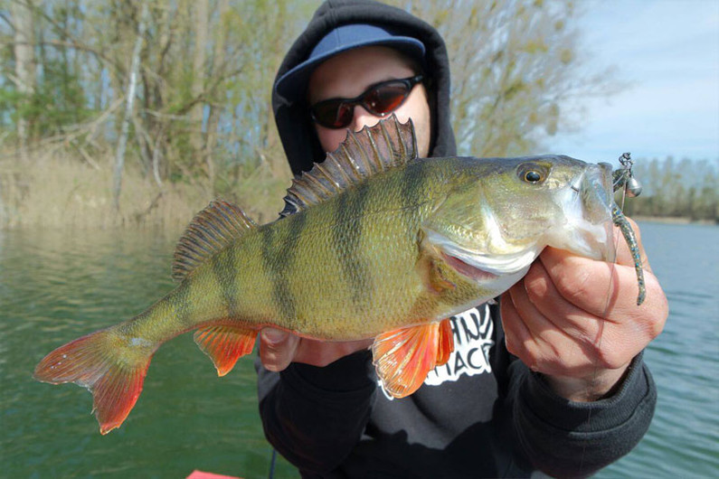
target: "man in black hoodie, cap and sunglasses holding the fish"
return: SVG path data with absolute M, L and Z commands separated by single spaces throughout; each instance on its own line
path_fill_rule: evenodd
M 444 42 L 387 5 L 320 6 L 279 69 L 273 108 L 295 174 L 347 128 L 390 113 L 412 117 L 421 155 L 456 154 Z M 649 271 L 647 303 L 637 307 L 629 254 L 618 257 L 610 268 L 544 251 L 500 305 L 452 318 L 456 351 L 404 399 L 378 387 L 371 341 L 266 328 L 258 387 L 267 437 L 305 476 L 593 473 L 648 428 L 656 389 L 641 351 L 667 317 Z

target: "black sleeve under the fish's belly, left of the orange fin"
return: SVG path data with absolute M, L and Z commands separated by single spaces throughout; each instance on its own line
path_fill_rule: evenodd
M 362 437 L 377 380 L 370 352 L 318 368 L 293 362 L 271 372 L 255 361 L 265 436 L 300 471 L 336 468 Z

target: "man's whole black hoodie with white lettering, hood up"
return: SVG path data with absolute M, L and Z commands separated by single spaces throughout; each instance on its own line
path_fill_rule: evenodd
M 449 61 L 439 33 L 388 5 L 326 2 L 283 61 L 278 77 L 304 61 L 343 23 L 375 23 L 424 42 L 432 76 L 430 155 L 454 155 Z M 295 174 L 324 158 L 305 108 L 272 97 L 279 135 Z M 582 476 L 631 450 L 648 429 L 656 387 L 641 356 L 610 398 L 560 398 L 541 375 L 506 351 L 497 305 L 452 318 L 456 351 L 411 396 L 389 399 L 369 352 L 325 368 L 292 363 L 281 373 L 256 362 L 265 435 L 305 477 Z

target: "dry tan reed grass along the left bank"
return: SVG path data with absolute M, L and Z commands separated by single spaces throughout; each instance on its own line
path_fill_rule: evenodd
M 182 230 L 216 196 L 207 180 L 159 187 L 128 160 L 122 178 L 120 208 L 112 208 L 113 159 L 92 164 L 56 150 L 30 155 L 24 163 L 0 155 L 0 229 L 163 227 Z M 241 175 L 222 197 L 236 202 L 255 221 L 271 221 L 282 208 L 289 167 L 274 172 L 260 164 Z

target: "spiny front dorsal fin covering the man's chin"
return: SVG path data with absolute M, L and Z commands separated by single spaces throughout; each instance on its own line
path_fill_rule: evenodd
M 373 174 L 406 164 L 416 157 L 417 138 L 412 119 L 400 123 L 393 114 L 357 133 L 347 130 L 345 141 L 328 153 L 324 162 L 292 180 L 285 196 L 285 209 L 279 215 L 284 217 L 304 210 Z

